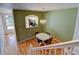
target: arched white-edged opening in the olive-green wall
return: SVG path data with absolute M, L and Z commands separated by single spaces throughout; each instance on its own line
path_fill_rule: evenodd
M 28 15 L 25 17 L 26 28 L 33 28 L 38 26 L 38 16 Z

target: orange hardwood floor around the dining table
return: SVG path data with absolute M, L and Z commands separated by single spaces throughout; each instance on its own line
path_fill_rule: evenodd
M 57 40 L 57 39 L 52 39 L 52 43 L 51 44 L 55 44 L 55 43 L 60 43 L 61 41 Z M 37 47 L 38 46 L 38 43 L 37 41 L 35 40 L 35 38 L 31 38 L 29 40 L 26 40 L 24 42 L 21 42 L 18 44 L 18 47 L 19 47 L 19 50 L 20 50 L 20 54 L 21 55 L 26 55 L 27 54 L 27 51 L 28 51 L 28 48 L 29 48 L 29 45 L 32 44 L 33 47 Z M 57 49 L 57 55 L 60 54 L 60 50 L 61 49 Z

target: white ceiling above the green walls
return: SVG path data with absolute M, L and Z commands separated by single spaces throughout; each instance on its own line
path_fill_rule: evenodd
M 78 3 L 0 3 L 0 8 L 34 10 L 34 11 L 51 11 L 51 10 L 75 8 L 75 7 L 79 7 L 79 4 Z

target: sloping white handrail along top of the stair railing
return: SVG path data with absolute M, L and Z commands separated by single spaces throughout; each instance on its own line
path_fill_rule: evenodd
M 79 46 L 79 40 L 72 40 L 72 41 L 51 44 L 51 45 L 46 45 L 46 46 L 41 46 L 41 47 L 34 47 L 31 49 L 32 50 L 42 50 L 42 49 L 49 49 L 49 48 L 54 49 L 54 48 L 74 47 L 74 46 Z

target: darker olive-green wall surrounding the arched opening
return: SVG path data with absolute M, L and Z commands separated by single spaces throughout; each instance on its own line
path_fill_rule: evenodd
M 28 11 L 28 10 L 13 10 L 14 22 L 16 28 L 17 41 L 20 42 L 28 37 L 34 36 L 36 31 L 42 32 L 41 24 L 39 23 L 38 27 L 35 28 L 26 28 L 25 27 L 25 16 L 27 15 L 37 15 L 39 20 L 42 18 L 42 13 L 37 11 Z

